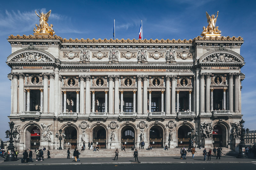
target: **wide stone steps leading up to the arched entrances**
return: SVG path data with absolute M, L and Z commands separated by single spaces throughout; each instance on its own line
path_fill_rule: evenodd
M 187 148 L 186 148 L 187 149 Z M 118 157 L 132 157 L 133 152 L 131 149 L 125 149 L 125 151 L 119 150 Z M 70 158 L 73 155 L 74 150 L 70 150 Z M 115 149 L 100 149 L 100 151 L 92 151 L 85 149 L 85 151 L 81 152 L 79 158 L 104 158 L 104 157 L 114 157 L 115 156 Z M 222 148 L 222 154 L 232 154 L 236 153 L 233 150 L 228 148 Z M 50 150 L 51 158 L 67 158 L 67 149 L 63 150 Z M 163 148 L 153 148 L 152 150 L 148 151 L 145 149 L 138 150 L 139 157 L 175 157 L 180 156 L 180 148 L 168 148 L 168 151 L 165 151 Z M 212 152 L 213 155 L 213 152 Z M 33 151 L 33 158 L 35 157 L 35 152 Z M 187 156 L 192 156 L 191 152 L 187 152 Z M 203 156 L 203 149 L 196 148 L 195 156 Z M 44 158 L 47 158 L 47 151 L 44 151 Z

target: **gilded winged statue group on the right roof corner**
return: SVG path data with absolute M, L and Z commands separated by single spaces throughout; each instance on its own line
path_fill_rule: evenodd
M 208 26 L 205 28 L 205 26 L 203 27 L 203 32 L 201 33 L 201 36 L 206 36 L 206 37 L 210 37 L 210 36 L 218 36 L 220 37 L 220 33 L 221 31 L 219 30 L 219 26 L 216 26 L 216 21 L 219 15 L 219 11 L 217 12 L 217 16 L 215 18 L 216 13 L 212 16 L 210 16 L 207 12 L 206 12 L 206 18 L 207 18 L 207 22 L 208 22 Z

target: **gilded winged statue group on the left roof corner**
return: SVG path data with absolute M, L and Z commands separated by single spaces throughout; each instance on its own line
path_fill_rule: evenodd
M 39 11 L 39 10 L 38 10 Z M 36 12 L 36 11 L 35 11 Z M 53 31 L 52 27 L 53 25 L 51 24 L 49 26 L 49 24 L 47 23 L 49 17 L 50 17 L 50 14 L 51 14 L 52 10 L 50 10 L 49 12 L 47 12 L 46 14 L 45 13 L 41 13 L 39 11 L 39 14 L 38 15 L 36 13 L 36 15 L 40 18 L 39 19 L 39 26 L 36 24 L 36 28 L 34 27 L 34 32 L 35 34 L 50 34 L 53 36 L 53 34 L 55 34 L 55 32 Z

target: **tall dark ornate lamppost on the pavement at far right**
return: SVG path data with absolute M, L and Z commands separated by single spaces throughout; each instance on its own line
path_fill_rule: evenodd
M 240 135 L 240 144 L 239 144 L 239 154 L 236 158 L 248 158 L 248 156 L 245 154 L 245 144 L 244 144 L 244 136 L 245 134 L 245 129 L 244 129 L 244 120 L 242 119 L 239 121 L 240 126 L 241 126 L 241 135 Z M 249 129 L 246 129 L 246 133 L 248 135 Z

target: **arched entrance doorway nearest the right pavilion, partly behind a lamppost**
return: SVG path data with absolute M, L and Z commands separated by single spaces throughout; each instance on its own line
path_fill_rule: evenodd
M 188 132 L 190 132 L 190 128 L 186 125 L 180 126 L 178 129 L 178 147 L 189 147 L 190 145 L 190 137 L 188 136 Z

